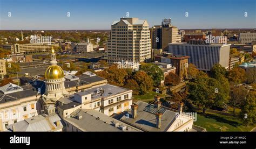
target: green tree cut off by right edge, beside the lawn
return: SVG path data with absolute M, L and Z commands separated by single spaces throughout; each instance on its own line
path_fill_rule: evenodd
M 241 101 L 240 117 L 247 126 L 256 120 L 256 97 L 252 91 Z

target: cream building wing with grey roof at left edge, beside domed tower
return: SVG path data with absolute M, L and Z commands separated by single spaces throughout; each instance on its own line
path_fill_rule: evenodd
M 38 92 L 32 86 L 9 83 L 0 88 L 0 131 L 6 126 L 37 116 Z

